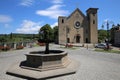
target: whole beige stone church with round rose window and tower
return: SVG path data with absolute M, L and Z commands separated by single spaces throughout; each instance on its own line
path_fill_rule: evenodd
M 58 17 L 58 43 L 98 43 L 98 8 L 89 8 L 84 15 L 79 8 L 69 16 Z

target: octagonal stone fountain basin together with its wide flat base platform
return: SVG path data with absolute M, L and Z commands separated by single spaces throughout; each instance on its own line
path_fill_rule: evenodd
M 26 54 L 26 60 L 15 63 L 6 71 L 7 74 L 25 79 L 47 79 L 76 73 L 79 62 L 67 57 L 67 52 L 50 50 L 34 51 Z

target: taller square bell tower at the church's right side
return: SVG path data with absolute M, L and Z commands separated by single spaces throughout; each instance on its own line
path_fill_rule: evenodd
M 89 40 L 90 43 L 98 43 L 98 8 L 89 8 L 87 12 L 88 29 L 89 29 Z

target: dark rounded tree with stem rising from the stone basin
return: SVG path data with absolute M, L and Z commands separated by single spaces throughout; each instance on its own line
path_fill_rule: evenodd
M 52 28 L 49 24 L 46 24 L 41 27 L 39 34 L 42 36 L 40 40 L 46 43 L 45 54 L 49 54 L 49 42 L 51 41 Z

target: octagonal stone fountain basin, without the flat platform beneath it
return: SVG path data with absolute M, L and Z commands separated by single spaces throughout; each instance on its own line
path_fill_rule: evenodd
M 45 71 L 64 68 L 69 65 L 69 63 L 67 52 L 50 50 L 50 54 L 44 54 L 44 51 L 26 54 L 26 61 L 23 61 L 20 66 L 26 69 Z

